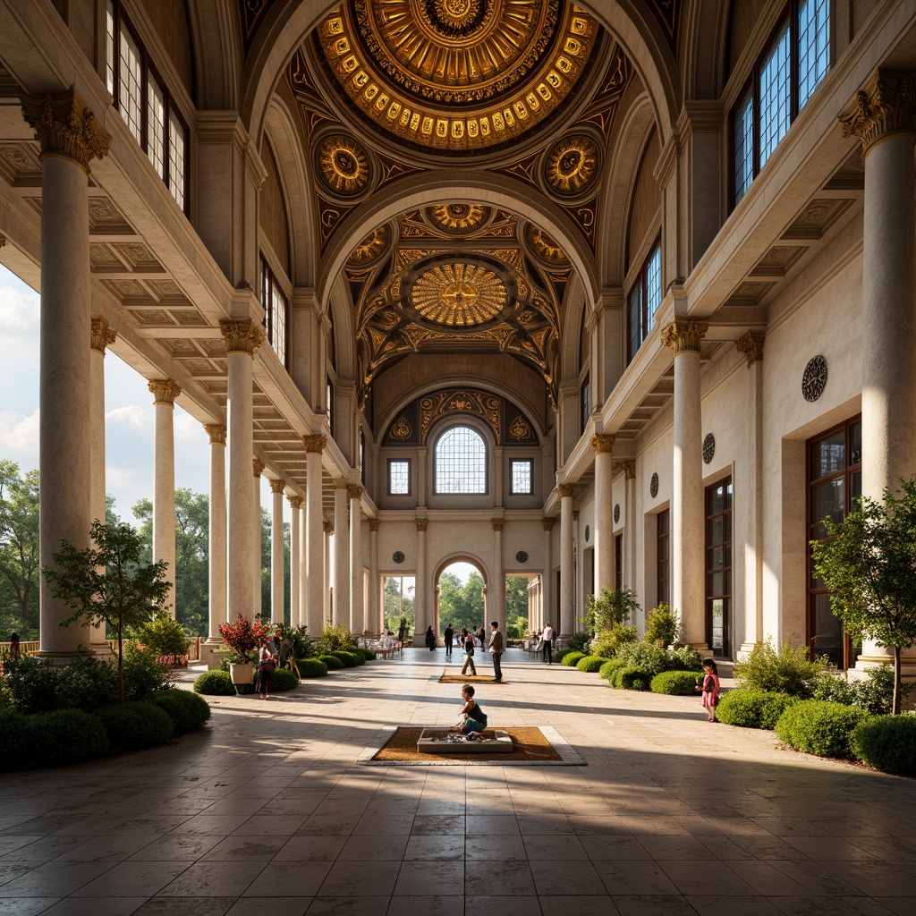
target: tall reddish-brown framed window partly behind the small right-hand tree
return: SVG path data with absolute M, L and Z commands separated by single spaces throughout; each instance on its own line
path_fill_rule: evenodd
M 862 418 L 808 442 L 808 644 L 837 668 L 856 663 L 857 647 L 830 607 L 830 592 L 814 577 L 811 541 L 824 540 L 824 518 L 843 521 L 862 495 Z

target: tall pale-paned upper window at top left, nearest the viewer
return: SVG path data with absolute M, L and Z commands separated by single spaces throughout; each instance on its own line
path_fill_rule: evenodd
M 116 0 L 108 0 L 105 19 L 105 82 L 114 107 L 186 211 L 188 128 Z

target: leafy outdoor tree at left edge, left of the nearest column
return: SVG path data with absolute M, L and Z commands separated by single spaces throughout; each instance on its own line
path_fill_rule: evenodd
M 38 636 L 38 471 L 0 461 L 0 616 L 5 631 Z M 0 612 L 2 613 L 2 612 Z

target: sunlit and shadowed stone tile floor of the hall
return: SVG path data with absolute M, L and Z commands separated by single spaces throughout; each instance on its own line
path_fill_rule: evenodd
M 382 725 L 453 722 L 443 663 L 214 698 L 169 747 L 0 777 L 0 916 L 916 912 L 916 782 L 520 651 L 478 691 L 491 724 L 551 725 L 586 766 L 356 766 Z

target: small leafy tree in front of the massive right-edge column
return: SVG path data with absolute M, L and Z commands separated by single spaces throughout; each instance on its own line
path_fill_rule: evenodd
M 894 652 L 893 714 L 900 713 L 900 650 L 916 641 L 916 476 L 883 502 L 863 496 L 829 540 L 812 541 L 814 571 L 833 594 L 834 614 L 853 638 Z

